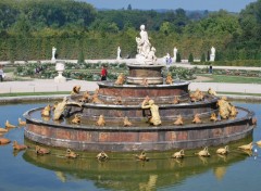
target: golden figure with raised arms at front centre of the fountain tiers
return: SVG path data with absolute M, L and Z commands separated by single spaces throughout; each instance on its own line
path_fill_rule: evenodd
M 154 104 L 153 100 L 148 100 L 148 98 L 146 98 L 141 104 L 141 109 L 150 109 L 151 113 L 151 116 L 149 117 L 150 124 L 154 126 L 161 125 L 159 106 Z

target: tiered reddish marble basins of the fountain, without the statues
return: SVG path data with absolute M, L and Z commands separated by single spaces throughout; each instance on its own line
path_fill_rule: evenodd
M 145 67 L 146 71 L 156 73 L 154 76 L 162 69 L 161 65 L 151 67 L 132 65 L 129 76 L 135 79 L 144 74 L 142 78 L 147 80 L 150 75 L 146 76 Z M 102 103 L 87 102 L 82 107 L 67 105 L 66 117 L 60 120 L 52 120 L 52 116 L 41 117 L 42 109 L 26 112 L 25 137 L 38 143 L 79 151 L 129 152 L 219 145 L 252 133 L 252 112 L 237 107 L 238 115 L 235 118 L 210 122 L 210 115 L 219 113 L 216 106 L 219 98 L 204 96 L 202 101 L 191 102 L 188 85 L 187 81 L 174 81 L 173 85 L 98 82 L 98 98 Z M 159 105 L 162 120 L 160 126 L 147 123 L 149 110 L 141 109 L 141 102 L 147 96 Z M 69 98 L 78 102 L 82 94 Z M 121 102 L 117 102 L 119 98 Z M 174 104 L 174 98 L 178 98 L 181 103 Z M 82 116 L 79 125 L 72 124 L 74 114 Z M 202 124 L 191 123 L 195 114 L 200 115 Z M 104 116 L 103 127 L 96 125 L 100 115 Z M 178 115 L 184 118 L 183 126 L 173 125 Z M 124 127 L 125 116 L 133 126 Z

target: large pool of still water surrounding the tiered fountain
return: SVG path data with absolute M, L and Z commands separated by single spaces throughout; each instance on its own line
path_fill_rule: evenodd
M 26 111 L 45 106 L 47 103 L 1 104 L 0 126 L 7 119 L 17 125 L 17 118 Z M 209 190 L 260 190 L 261 148 L 254 145 L 254 153 L 245 153 L 238 145 L 261 140 L 260 103 L 235 102 L 256 113 L 258 126 L 253 135 L 241 141 L 229 143 L 229 154 L 215 154 L 217 148 L 210 148 L 211 156 L 202 158 L 185 151 L 184 160 L 171 158 L 174 151 L 148 152 L 149 162 L 136 161 L 138 153 L 107 153 L 109 161 L 98 162 L 97 153 L 77 152 L 78 158 L 64 157 L 65 150 L 50 148 L 51 154 L 39 156 L 34 152 L 35 143 L 24 140 L 24 129 L 14 128 L 5 138 L 30 148 L 13 152 L 12 143 L 0 145 L 0 191 L 71 191 L 71 190 L 127 190 L 127 191 L 209 191 Z M 23 118 L 23 117 L 22 117 Z

